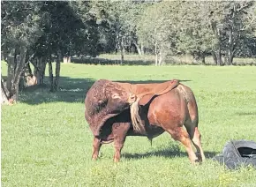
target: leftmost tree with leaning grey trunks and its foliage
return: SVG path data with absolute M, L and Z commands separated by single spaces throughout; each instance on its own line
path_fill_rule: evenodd
M 16 101 L 19 93 L 19 80 L 26 64 L 34 56 L 30 48 L 41 36 L 41 2 L 1 2 L 2 50 L 8 64 L 6 85 L 2 79 L 2 93 L 6 100 Z

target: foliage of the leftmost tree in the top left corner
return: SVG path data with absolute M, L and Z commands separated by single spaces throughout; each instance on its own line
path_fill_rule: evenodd
M 41 36 L 41 2 L 1 2 L 1 47 L 4 52 L 21 46 L 31 47 Z

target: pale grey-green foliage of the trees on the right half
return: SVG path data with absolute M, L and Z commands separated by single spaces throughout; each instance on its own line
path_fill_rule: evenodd
M 137 35 L 147 48 L 154 50 L 158 43 L 169 54 L 204 57 L 220 49 L 227 58 L 238 55 L 237 51 L 252 56 L 254 10 L 252 1 L 162 1 L 144 9 Z

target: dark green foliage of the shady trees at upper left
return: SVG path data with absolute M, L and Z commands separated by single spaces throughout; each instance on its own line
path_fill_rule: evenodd
M 2 47 L 31 48 L 36 56 L 93 55 L 99 32 L 88 2 L 1 2 Z M 6 52 L 6 51 L 5 51 Z

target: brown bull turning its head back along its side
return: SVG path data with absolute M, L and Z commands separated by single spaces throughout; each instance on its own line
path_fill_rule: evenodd
M 101 79 L 87 92 L 85 104 L 87 123 L 94 134 L 94 160 L 102 144 L 114 141 L 114 161 L 119 161 L 126 136 L 152 140 L 164 131 L 184 145 L 192 163 L 205 160 L 195 97 L 188 86 L 177 80 L 130 84 Z

